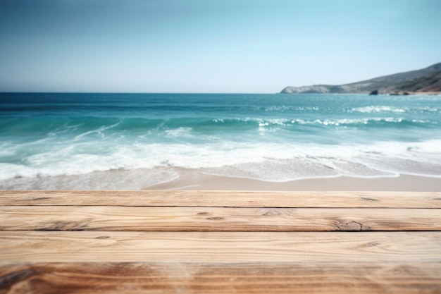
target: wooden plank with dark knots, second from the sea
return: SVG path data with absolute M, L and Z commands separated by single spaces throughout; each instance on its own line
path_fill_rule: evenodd
M 0 207 L 10 231 L 441 231 L 441 209 Z

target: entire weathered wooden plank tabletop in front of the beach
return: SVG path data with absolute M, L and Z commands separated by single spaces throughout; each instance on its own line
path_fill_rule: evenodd
M 3 293 L 441 293 L 441 192 L 0 191 Z

